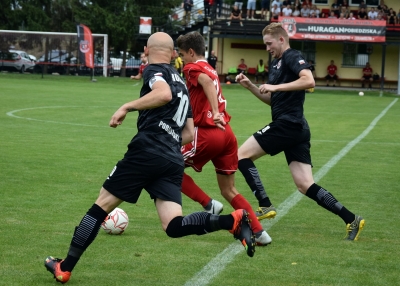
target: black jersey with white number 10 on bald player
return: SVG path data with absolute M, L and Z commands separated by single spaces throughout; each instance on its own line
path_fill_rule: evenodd
M 140 97 L 151 91 L 158 80 L 171 88 L 172 100 L 158 108 L 139 111 L 138 133 L 128 145 L 130 151 L 148 152 L 184 165 L 181 154 L 182 129 L 187 118 L 192 118 L 189 93 L 185 82 L 169 64 L 150 64 L 143 72 Z

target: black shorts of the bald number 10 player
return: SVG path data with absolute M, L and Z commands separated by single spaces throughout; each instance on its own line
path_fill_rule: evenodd
M 184 167 L 155 154 L 129 151 L 107 177 L 103 187 L 117 198 L 136 203 L 143 189 L 152 199 L 182 205 Z

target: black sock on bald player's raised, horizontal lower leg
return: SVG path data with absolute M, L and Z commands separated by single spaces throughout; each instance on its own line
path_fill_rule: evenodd
M 174 217 L 165 232 L 169 237 L 178 238 L 187 235 L 203 235 L 220 229 L 230 230 L 233 227 L 232 215 L 213 215 L 207 212 L 196 212 L 187 216 Z

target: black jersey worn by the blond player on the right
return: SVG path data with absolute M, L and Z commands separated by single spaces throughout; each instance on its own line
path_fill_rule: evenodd
M 310 64 L 299 51 L 287 49 L 280 59 L 274 59 L 271 62 L 268 83 L 277 85 L 293 82 L 299 79 L 299 73 L 303 69 L 310 69 Z M 273 92 L 271 94 L 272 120 L 300 123 L 304 129 L 308 129 L 308 123 L 304 118 L 304 100 L 304 90 Z

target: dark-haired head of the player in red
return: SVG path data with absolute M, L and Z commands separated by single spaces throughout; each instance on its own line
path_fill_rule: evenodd
M 204 58 L 206 44 L 203 36 L 199 32 L 190 32 L 180 35 L 176 40 L 179 55 L 186 63 L 192 63 Z

